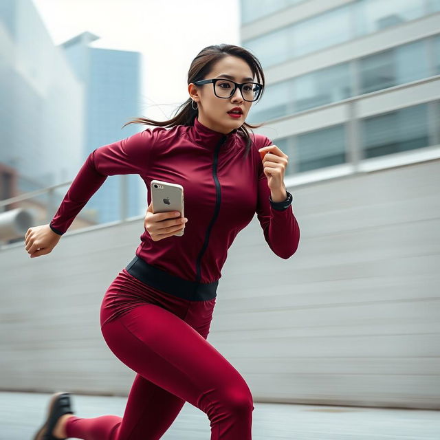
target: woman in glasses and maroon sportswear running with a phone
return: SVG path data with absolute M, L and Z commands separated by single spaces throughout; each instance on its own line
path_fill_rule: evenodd
M 50 224 L 26 233 L 31 258 L 51 252 L 108 175 L 137 173 L 148 188 L 152 179 L 184 187 L 184 219 L 153 214 L 148 192 L 141 244 L 102 300 L 104 340 L 137 373 L 124 417 L 76 417 L 69 393 L 56 393 L 34 439 L 159 439 L 185 401 L 206 412 L 211 440 L 251 439 L 250 389 L 206 338 L 228 248 L 255 212 L 275 254 L 288 259 L 298 248 L 283 181 L 288 157 L 246 129 L 256 128 L 245 118 L 264 85 L 259 61 L 243 47 L 201 50 L 188 72 L 190 98 L 175 118 L 129 122 L 156 127 L 96 148 Z

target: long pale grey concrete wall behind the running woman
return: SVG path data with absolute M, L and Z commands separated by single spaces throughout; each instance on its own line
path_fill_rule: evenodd
M 439 188 L 439 160 L 289 188 L 301 238 L 288 260 L 256 217 L 239 234 L 208 342 L 255 401 L 440 407 Z M 37 259 L 0 251 L 1 390 L 128 393 L 135 373 L 99 309 L 142 220 L 67 232 Z

